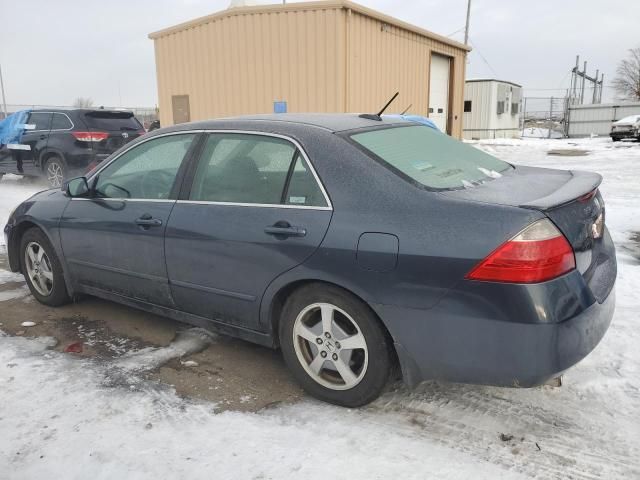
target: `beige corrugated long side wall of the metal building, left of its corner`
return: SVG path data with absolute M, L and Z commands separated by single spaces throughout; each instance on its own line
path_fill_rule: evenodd
M 219 18 L 156 38 L 160 120 L 172 95 L 189 95 L 192 120 L 344 110 L 344 29 L 338 9 Z

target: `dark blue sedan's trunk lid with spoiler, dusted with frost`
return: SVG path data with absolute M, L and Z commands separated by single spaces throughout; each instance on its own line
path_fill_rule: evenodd
M 604 201 L 597 190 L 601 182 L 602 177 L 592 172 L 518 166 L 503 172 L 500 178 L 442 194 L 544 213 L 569 240 L 578 270 L 600 300 L 606 298 L 615 279 L 615 261 L 611 267 L 613 278 L 609 281 L 602 279 L 608 275 L 604 270 L 597 272 L 600 265 L 615 255 L 604 229 Z

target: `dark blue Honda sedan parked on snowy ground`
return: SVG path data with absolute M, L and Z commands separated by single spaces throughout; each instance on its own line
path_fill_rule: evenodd
M 399 365 L 529 387 L 585 357 L 614 310 L 595 173 L 514 166 L 375 115 L 183 124 L 22 203 L 13 271 L 280 348 L 312 395 L 375 399 Z

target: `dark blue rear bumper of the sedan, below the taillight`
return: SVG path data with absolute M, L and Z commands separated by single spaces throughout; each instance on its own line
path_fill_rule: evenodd
M 600 342 L 615 309 L 615 291 L 560 323 L 515 323 L 467 315 L 379 306 L 402 319 L 390 328 L 404 380 L 495 386 L 541 385 L 575 365 Z

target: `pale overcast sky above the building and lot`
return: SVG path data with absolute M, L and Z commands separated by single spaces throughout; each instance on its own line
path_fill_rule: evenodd
M 256 0 L 254 3 L 269 3 Z M 359 3 L 462 41 L 467 0 Z M 229 0 L 0 0 L 0 66 L 8 104 L 153 107 L 150 32 L 214 13 Z M 603 100 L 626 50 L 640 47 L 640 2 L 472 0 L 467 78 L 522 84 L 526 96 L 562 96 L 576 55 L 605 74 Z

